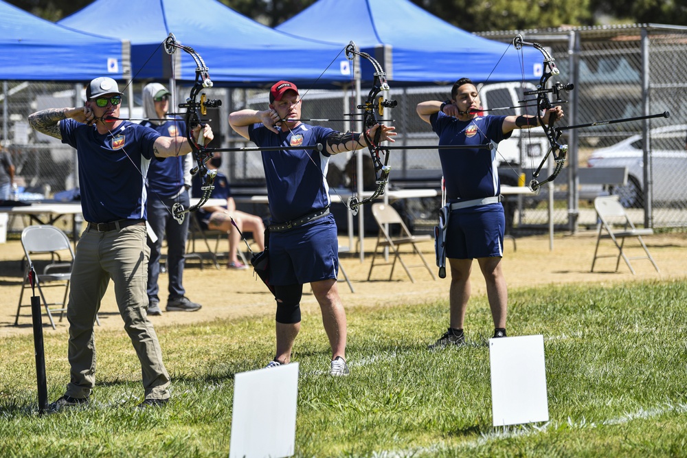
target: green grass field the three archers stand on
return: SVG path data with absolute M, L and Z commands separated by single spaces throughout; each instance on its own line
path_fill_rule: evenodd
M 687 456 L 687 282 L 512 288 L 510 335 L 543 334 L 550 421 L 492 426 L 485 297 L 469 344 L 428 352 L 446 303 L 349 308 L 351 375 L 328 376 L 319 314 L 305 314 L 299 457 Z M 158 330 L 172 400 L 137 411 L 140 367 L 121 331 L 96 331 L 89 407 L 37 414 L 33 339 L 2 340 L 0 456 L 227 457 L 234 374 L 273 356 L 273 319 Z M 49 399 L 69 377 L 65 334 L 45 334 Z

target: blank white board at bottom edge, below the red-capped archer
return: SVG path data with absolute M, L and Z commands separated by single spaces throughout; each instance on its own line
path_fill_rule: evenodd
M 297 398 L 298 363 L 236 374 L 229 458 L 291 457 Z

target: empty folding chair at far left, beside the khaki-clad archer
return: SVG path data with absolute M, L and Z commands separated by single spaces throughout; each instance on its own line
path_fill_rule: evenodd
M 74 251 L 71 249 L 69 238 L 67 238 L 63 231 L 54 226 L 29 226 L 21 232 L 21 246 L 24 249 L 27 266 L 21 286 L 21 293 L 19 294 L 19 306 L 16 308 L 14 325 L 19 324 L 21 308 L 31 306 L 31 304 L 22 304 L 22 300 L 24 290 L 31 288 L 28 276 L 33 266 L 36 271 L 35 284 L 38 289 L 38 295 L 40 295 L 43 306 L 45 306 L 45 313 L 50 320 L 50 325 L 52 325 L 53 329 L 56 329 L 52 314 L 60 312 L 60 321 L 62 321 L 64 313 L 67 311 L 71 267 L 74 264 Z M 42 273 L 38 273 L 38 264 L 41 264 Z M 47 301 L 43 289 L 49 287 L 65 288 L 61 302 Z M 100 325 L 97 315 L 95 320 Z

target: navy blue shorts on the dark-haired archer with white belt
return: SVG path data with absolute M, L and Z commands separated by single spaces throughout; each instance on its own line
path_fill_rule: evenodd
M 446 233 L 446 257 L 503 257 L 506 216 L 501 203 L 451 211 Z

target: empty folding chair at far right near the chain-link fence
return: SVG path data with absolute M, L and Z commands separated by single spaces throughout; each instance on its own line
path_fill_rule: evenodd
M 630 268 L 632 275 L 635 274 L 635 270 L 630 264 L 630 260 L 638 259 L 648 259 L 651 264 L 655 267 L 657 272 L 660 272 L 658 266 L 651 257 L 649 249 L 646 248 L 642 236 L 650 236 L 653 234 L 653 229 L 637 229 L 633 222 L 630 220 L 625 209 L 620 205 L 618 201 L 618 196 L 600 196 L 594 198 L 594 208 L 596 209 L 596 215 L 599 219 L 599 232 L 598 238 L 596 239 L 596 249 L 594 249 L 594 260 L 592 260 L 592 272 L 594 272 L 594 264 L 599 257 L 616 257 L 616 255 L 599 255 L 599 243 L 601 239 L 611 239 L 613 243 L 616 244 L 618 249 L 618 256 L 616 259 L 616 272 L 618 272 L 618 266 L 620 266 L 620 257 L 625 261 L 625 264 Z M 622 225 L 622 229 L 613 229 L 613 225 Z M 644 249 L 645 256 L 633 256 L 628 257 L 625 255 L 624 244 L 625 238 L 636 237 L 639 240 L 642 248 Z M 620 243 L 618 243 L 620 239 Z

